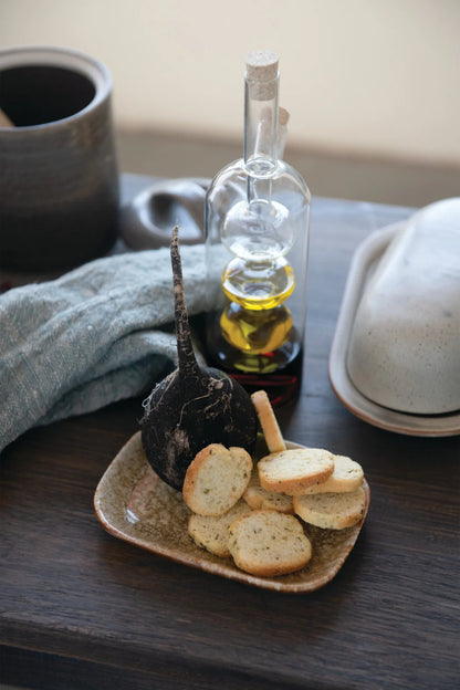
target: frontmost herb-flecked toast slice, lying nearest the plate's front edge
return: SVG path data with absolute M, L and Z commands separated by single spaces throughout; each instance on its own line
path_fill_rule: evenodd
M 300 571 L 312 557 L 312 544 L 293 515 L 252 511 L 229 527 L 229 550 L 236 565 L 261 577 Z

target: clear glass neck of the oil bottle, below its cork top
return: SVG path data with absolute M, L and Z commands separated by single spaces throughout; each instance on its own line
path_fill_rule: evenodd
M 279 76 L 244 80 L 244 167 L 249 175 L 269 177 L 278 166 Z

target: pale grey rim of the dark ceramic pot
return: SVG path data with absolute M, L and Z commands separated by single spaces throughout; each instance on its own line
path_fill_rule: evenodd
M 109 70 L 103 62 L 83 51 L 59 45 L 18 45 L 0 50 L 0 72 L 12 67 L 32 67 L 39 65 L 61 67 L 85 76 L 94 86 L 94 97 L 81 111 L 67 117 L 21 127 L 0 125 L 1 133 L 8 132 L 14 136 L 13 133 L 56 128 L 61 125 L 64 126 L 70 121 L 80 118 L 85 113 L 94 109 L 111 95 L 112 75 Z

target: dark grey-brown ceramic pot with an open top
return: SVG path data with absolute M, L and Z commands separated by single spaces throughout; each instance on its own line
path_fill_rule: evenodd
M 0 51 L 0 268 L 66 269 L 114 243 L 111 96 L 107 69 L 79 51 Z

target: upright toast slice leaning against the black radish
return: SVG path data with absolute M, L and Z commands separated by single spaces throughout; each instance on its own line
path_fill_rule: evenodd
M 243 448 L 210 443 L 187 469 L 184 500 L 198 515 L 223 515 L 241 499 L 252 468 L 251 456 Z

